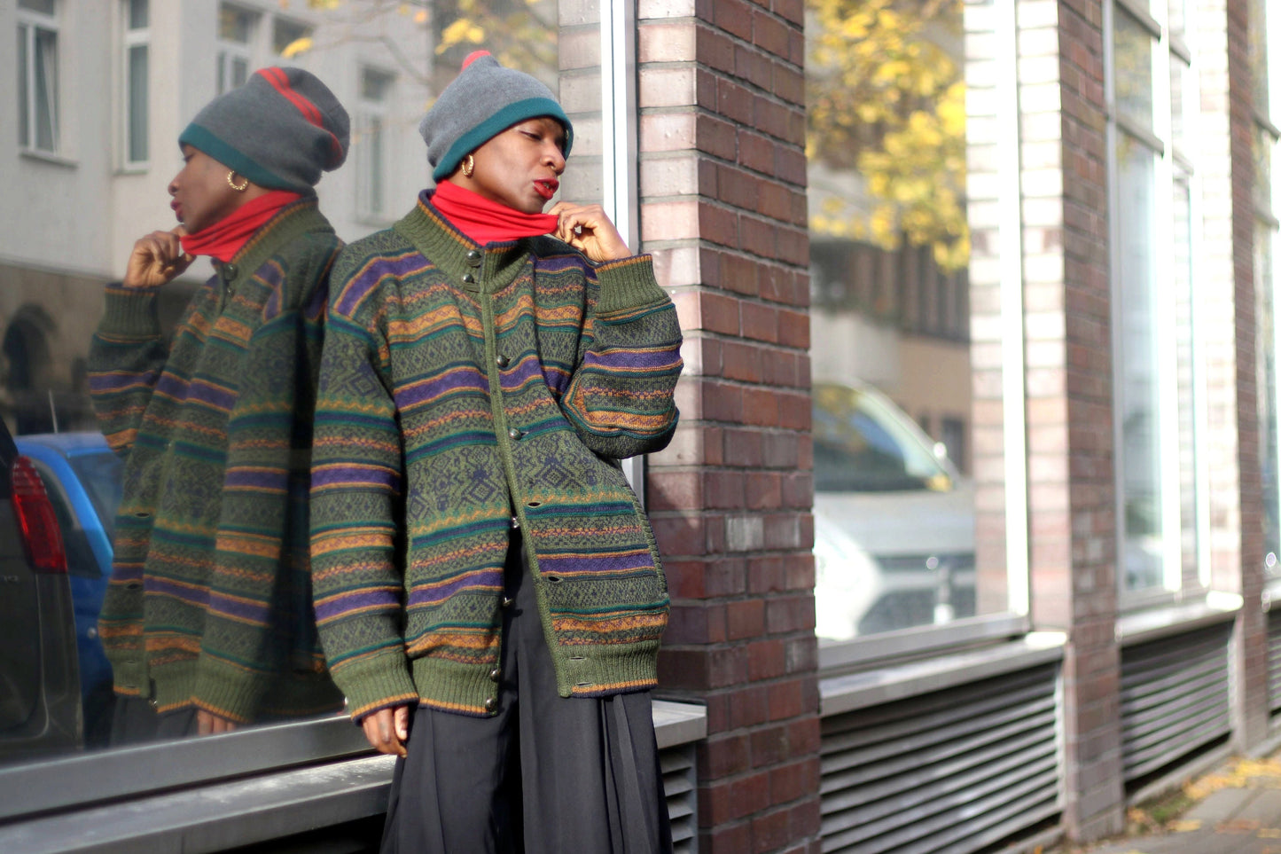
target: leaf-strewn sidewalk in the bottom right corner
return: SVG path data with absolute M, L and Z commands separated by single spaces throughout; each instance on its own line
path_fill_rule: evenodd
M 1136 835 L 1053 854 L 1281 854 L 1281 753 L 1236 758 L 1184 786 L 1189 808 L 1161 818 L 1177 795 L 1130 812 Z

